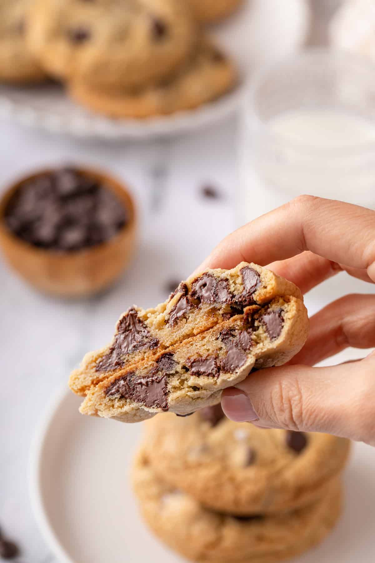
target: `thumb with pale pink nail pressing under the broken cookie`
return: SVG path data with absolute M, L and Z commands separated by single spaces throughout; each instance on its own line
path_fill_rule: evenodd
M 375 353 L 329 368 L 261 369 L 223 391 L 228 418 L 266 428 L 327 432 L 375 445 Z

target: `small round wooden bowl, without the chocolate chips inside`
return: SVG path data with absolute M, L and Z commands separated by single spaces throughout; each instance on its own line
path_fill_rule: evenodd
M 135 246 L 135 207 L 126 188 L 106 173 L 89 168 L 75 169 L 111 190 L 128 211 L 128 223 L 104 243 L 62 253 L 34 247 L 8 229 L 4 214 L 12 195 L 24 182 L 53 172 L 52 169 L 21 178 L 0 199 L 0 247 L 6 260 L 26 282 L 58 297 L 87 297 L 106 289 L 128 265 Z

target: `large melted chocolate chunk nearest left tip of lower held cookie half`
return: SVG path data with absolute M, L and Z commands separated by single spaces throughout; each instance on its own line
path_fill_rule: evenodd
M 145 377 L 136 378 L 134 372 L 121 377 L 106 390 L 107 397 L 120 396 L 149 407 L 168 410 L 168 380 L 153 369 Z

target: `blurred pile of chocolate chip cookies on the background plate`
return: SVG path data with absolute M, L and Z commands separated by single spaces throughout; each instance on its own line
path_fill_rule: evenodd
M 111 117 L 195 108 L 236 83 L 231 61 L 199 29 L 239 0 L 4 0 L 0 79 L 46 75 Z

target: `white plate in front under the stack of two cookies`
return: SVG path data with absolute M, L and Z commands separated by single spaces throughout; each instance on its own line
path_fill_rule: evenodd
M 344 353 L 340 361 L 354 357 L 356 352 Z M 64 563 L 181 563 L 148 533 L 129 487 L 142 424 L 83 417 L 79 403 L 71 392 L 60 393 L 31 452 L 31 499 L 53 553 Z M 345 474 L 344 516 L 300 563 L 373 563 L 374 466 L 375 448 L 355 444 Z

